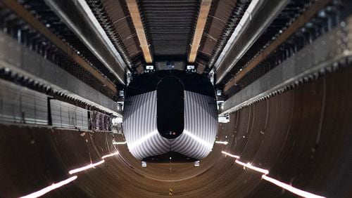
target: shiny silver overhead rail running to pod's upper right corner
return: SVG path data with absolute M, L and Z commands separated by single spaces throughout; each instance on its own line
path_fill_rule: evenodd
M 249 4 L 215 62 L 216 84 L 222 81 L 288 3 L 289 0 L 253 0 Z

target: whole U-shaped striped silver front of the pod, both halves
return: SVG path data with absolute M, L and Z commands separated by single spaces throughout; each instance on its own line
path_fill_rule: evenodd
M 175 151 L 202 159 L 209 154 L 218 129 L 215 100 L 190 91 L 184 91 L 184 98 L 184 132 L 172 140 L 158 133 L 156 91 L 126 98 L 123 128 L 134 157 L 144 159 Z

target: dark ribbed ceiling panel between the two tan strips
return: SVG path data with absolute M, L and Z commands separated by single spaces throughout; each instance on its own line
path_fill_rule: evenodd
M 139 1 L 154 59 L 187 60 L 199 1 Z

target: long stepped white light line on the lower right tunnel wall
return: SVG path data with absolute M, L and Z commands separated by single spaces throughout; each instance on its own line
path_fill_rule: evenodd
M 306 192 L 306 191 L 304 191 L 304 190 L 299 190 L 299 189 L 296 188 L 296 187 L 293 187 L 293 186 L 288 185 L 288 184 L 286 184 L 286 183 L 282 183 L 282 182 L 280 182 L 279 180 L 275 180 L 274 178 L 270 178 L 269 176 L 267 176 L 267 175 L 269 174 L 269 171 L 268 171 L 268 170 L 266 170 L 266 169 L 260 169 L 260 168 L 258 168 L 258 167 L 256 167 L 256 166 L 252 166 L 250 163 L 245 164 L 244 162 L 238 161 L 239 156 L 237 156 L 237 155 L 230 154 L 230 153 L 225 152 L 225 151 L 222 151 L 221 153 L 222 153 L 222 154 L 225 154 L 225 155 L 228 155 L 228 156 L 230 156 L 230 157 L 236 158 L 236 161 L 234 161 L 234 162 L 236 162 L 237 164 L 240 164 L 241 166 L 245 166 L 246 168 L 249 168 L 249 169 L 252 169 L 252 170 L 254 170 L 254 171 L 258 171 L 258 172 L 260 172 L 260 173 L 263 173 L 262 178 L 263 178 L 264 180 L 267 180 L 267 181 L 270 182 L 270 183 L 273 183 L 273 184 L 275 184 L 275 185 L 277 185 L 277 186 L 279 186 L 279 187 L 282 187 L 282 188 L 284 188 L 285 190 L 288 190 L 289 192 L 292 192 L 292 193 L 294 193 L 294 194 L 297 194 L 298 196 L 307 197 L 307 198 L 326 198 L 326 197 L 319 196 L 319 195 L 317 195 L 317 194 L 313 194 L 313 193 L 310 193 L 310 192 Z

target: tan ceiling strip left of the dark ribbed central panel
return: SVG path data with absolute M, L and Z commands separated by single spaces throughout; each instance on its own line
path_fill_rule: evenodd
M 139 13 L 137 1 L 126 0 L 126 3 L 127 3 L 128 11 L 130 11 L 134 29 L 136 29 L 139 45 L 142 48 L 144 60 L 146 60 L 146 63 L 151 63 L 153 62 L 153 58 L 151 56 L 151 51 L 149 49 L 150 45 L 146 40 L 146 32 L 144 31 L 143 22 L 142 22 L 141 15 Z

